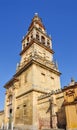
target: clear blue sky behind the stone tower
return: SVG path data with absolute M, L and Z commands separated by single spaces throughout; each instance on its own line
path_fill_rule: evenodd
M 3 85 L 15 74 L 21 40 L 35 12 L 52 36 L 62 87 L 71 77 L 77 81 L 77 0 L 0 0 L 0 110 Z

